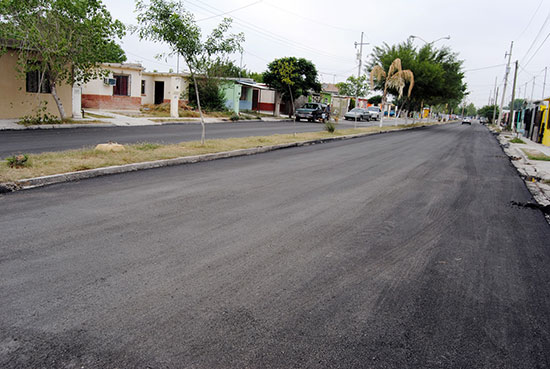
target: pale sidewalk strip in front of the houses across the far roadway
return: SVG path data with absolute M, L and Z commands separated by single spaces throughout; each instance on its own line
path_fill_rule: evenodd
M 42 124 L 36 126 L 24 126 L 17 124 L 17 119 L 0 119 L 0 131 L 2 130 L 25 130 L 25 129 L 57 129 L 57 128 L 79 128 L 79 127 L 129 127 L 129 126 L 158 126 L 163 124 L 200 124 L 200 118 L 170 118 L 170 117 L 131 117 L 125 114 L 138 114 L 139 111 L 124 111 L 125 114 L 117 111 L 104 110 L 85 110 L 83 119 L 73 119 L 82 123 L 71 124 Z M 93 117 L 92 115 L 101 115 L 103 117 Z M 264 122 L 287 121 L 285 117 L 261 117 L 258 120 Z M 258 120 L 240 120 L 239 122 L 258 121 Z M 100 122 L 94 122 L 100 121 Z M 205 123 L 228 123 L 228 118 L 204 118 Z

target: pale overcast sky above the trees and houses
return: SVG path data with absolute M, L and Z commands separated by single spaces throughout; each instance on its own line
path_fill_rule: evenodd
M 396 44 L 410 35 L 436 46 L 449 46 L 464 60 L 468 102 L 486 105 L 495 78 L 502 92 L 504 54 L 514 41 L 512 63 L 519 60 L 516 96 L 541 98 L 544 67 L 550 66 L 550 0 L 182 0 L 207 34 L 223 16 L 232 17 L 234 31 L 244 32 L 243 66 L 265 71 L 268 62 L 284 56 L 313 61 L 322 82 L 339 82 L 357 75 L 357 50 L 361 32 L 363 60 L 373 45 Z M 114 18 L 136 24 L 133 0 L 104 0 Z M 222 15 L 226 13 L 225 15 Z M 544 42 L 546 41 L 546 42 Z M 416 39 L 417 45 L 423 41 Z M 139 41 L 135 35 L 122 40 L 128 61 L 148 70 L 174 71 L 176 58 L 157 60 L 168 46 Z M 235 56 L 237 65 L 240 56 Z M 490 68 L 485 68 L 490 67 Z M 182 66 L 180 65 L 180 70 Z M 485 68 L 485 69 L 480 69 Z M 511 96 L 513 69 L 506 99 Z M 527 83 L 527 85 L 526 85 Z M 550 76 L 546 82 L 550 95 Z M 413 90 L 414 93 L 414 90 Z M 500 101 L 500 97 L 499 97 Z

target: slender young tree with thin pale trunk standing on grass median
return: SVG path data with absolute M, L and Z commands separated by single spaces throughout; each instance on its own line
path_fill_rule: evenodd
M 201 143 L 204 145 L 206 128 L 201 109 L 200 89 L 197 84 L 197 73 L 206 74 L 212 64 L 224 59 L 227 55 L 241 50 L 244 35 L 229 34 L 232 20 L 223 21 L 206 38 L 201 40 L 201 30 L 193 13 L 185 10 L 183 4 L 172 0 L 137 0 L 137 32 L 140 39 L 165 42 L 170 46 L 171 55 L 179 54 L 189 68 L 195 96 L 201 117 Z

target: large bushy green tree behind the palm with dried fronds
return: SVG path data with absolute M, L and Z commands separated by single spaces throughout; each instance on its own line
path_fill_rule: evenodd
M 435 49 L 428 44 L 418 49 L 411 40 L 392 46 L 383 44 L 374 48 L 366 69 L 370 72 L 375 65 L 380 65 L 387 70 L 397 58 L 401 59 L 403 69 L 414 74 L 414 94 L 410 98 L 398 99 L 399 105 L 406 105 L 408 110 L 419 110 L 423 105 L 457 107 L 462 101 L 466 92 L 462 61 L 449 48 Z M 383 90 L 384 86 L 378 82 L 376 87 Z M 398 90 L 393 87 L 388 92 L 398 95 Z

